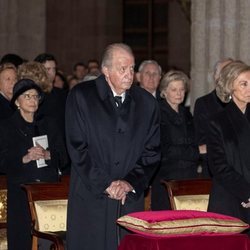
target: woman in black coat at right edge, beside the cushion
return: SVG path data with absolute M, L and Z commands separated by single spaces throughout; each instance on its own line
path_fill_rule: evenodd
M 213 185 L 208 210 L 250 223 L 250 66 L 242 62 L 225 66 L 216 94 L 228 104 L 209 123 Z

